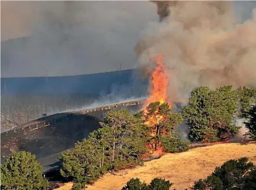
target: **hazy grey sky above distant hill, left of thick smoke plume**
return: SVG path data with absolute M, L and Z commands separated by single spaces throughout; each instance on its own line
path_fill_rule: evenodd
M 255 7 L 235 2 L 238 20 Z M 134 68 L 134 47 L 150 22 L 158 15 L 148 1 L 1 1 L 1 77 Z

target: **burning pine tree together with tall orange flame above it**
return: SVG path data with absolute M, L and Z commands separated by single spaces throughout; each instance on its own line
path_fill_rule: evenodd
M 170 142 L 170 139 L 163 138 L 177 137 L 174 127 L 183 122 L 182 115 L 171 113 L 171 104 L 166 103 L 168 74 L 161 61 L 162 58 L 164 55 L 151 58 L 151 61 L 155 61 L 157 65 L 150 77 L 150 97 L 142 109 L 144 112 L 137 114 L 137 116 L 143 117 L 145 125 L 148 126 L 148 149 L 151 149 L 152 152 L 160 149 L 161 141 Z M 174 139 L 174 141 L 176 140 Z

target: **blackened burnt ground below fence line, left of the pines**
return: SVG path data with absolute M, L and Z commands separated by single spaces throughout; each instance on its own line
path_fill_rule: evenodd
M 140 109 L 140 105 L 118 107 L 129 111 Z M 1 163 L 12 151 L 25 150 L 36 155 L 44 171 L 53 168 L 57 157 L 64 150 L 74 148 L 74 143 L 88 137 L 89 133 L 99 128 L 107 110 L 87 114 L 60 113 L 48 116 L 46 124 L 28 127 L 24 124 L 15 130 L 1 133 Z M 50 122 L 50 125 L 48 123 Z M 48 126 L 47 126 L 48 125 Z M 37 128 L 37 129 L 36 129 Z

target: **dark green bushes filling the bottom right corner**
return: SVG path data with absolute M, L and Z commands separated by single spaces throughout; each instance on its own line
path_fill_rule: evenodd
M 247 158 L 228 160 L 221 167 L 216 167 L 212 175 L 195 182 L 193 190 L 207 189 L 255 189 L 256 167 Z M 250 185 L 248 185 L 250 184 Z

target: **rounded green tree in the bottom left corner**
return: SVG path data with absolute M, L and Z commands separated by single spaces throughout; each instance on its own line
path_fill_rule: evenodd
M 47 189 L 43 167 L 30 152 L 17 152 L 1 164 L 1 189 Z

